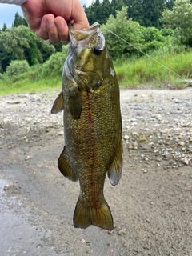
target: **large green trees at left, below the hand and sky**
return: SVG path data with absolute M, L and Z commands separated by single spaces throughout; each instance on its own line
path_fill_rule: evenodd
M 0 63 L 5 71 L 12 60 L 27 60 L 30 65 L 45 62 L 54 46 L 36 37 L 26 26 L 12 27 L 0 33 Z

